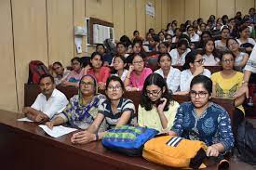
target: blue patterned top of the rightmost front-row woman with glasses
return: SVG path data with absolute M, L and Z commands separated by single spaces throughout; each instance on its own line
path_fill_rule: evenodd
M 201 140 L 210 146 L 222 143 L 224 151 L 234 147 L 234 136 L 227 111 L 209 102 L 209 107 L 200 117 L 196 116 L 194 104 L 184 102 L 177 111 L 172 130 L 188 139 Z

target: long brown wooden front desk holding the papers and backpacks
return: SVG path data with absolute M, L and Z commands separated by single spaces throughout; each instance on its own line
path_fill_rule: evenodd
M 5 170 L 108 170 L 108 169 L 177 169 L 150 163 L 141 157 L 128 157 L 106 150 L 101 142 L 72 145 L 68 134 L 47 136 L 38 124 L 17 122 L 20 113 L 0 110 L 0 160 Z M 232 170 L 243 163 L 231 162 Z M 216 170 L 216 166 L 208 167 Z

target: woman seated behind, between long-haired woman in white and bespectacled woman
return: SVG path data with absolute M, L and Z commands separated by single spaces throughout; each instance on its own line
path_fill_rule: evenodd
M 227 50 L 227 46 L 226 46 L 226 41 L 229 38 L 229 29 L 227 26 L 222 26 L 222 30 L 221 30 L 221 40 L 216 40 L 215 43 L 215 47 L 216 49 L 220 49 L 221 51 L 226 51 Z

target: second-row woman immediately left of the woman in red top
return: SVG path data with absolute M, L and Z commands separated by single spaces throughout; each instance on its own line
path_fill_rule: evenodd
M 79 81 L 85 74 L 85 69 L 82 68 L 81 60 L 77 57 L 71 59 L 72 72 L 67 77 L 61 80 L 61 85 L 71 85 L 78 87 Z

